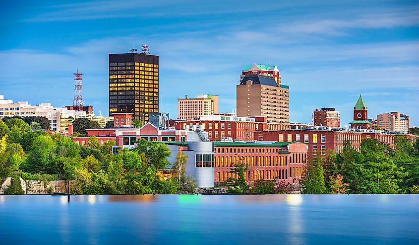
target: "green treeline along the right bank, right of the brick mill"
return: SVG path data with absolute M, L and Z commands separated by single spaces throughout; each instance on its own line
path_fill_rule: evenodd
M 310 161 L 301 185 L 306 194 L 419 194 L 419 140 L 395 136 L 390 148 L 365 139 L 359 151 L 345 142 L 339 154 Z

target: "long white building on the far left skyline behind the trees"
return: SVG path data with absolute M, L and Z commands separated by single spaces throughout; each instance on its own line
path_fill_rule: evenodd
M 68 117 L 85 117 L 85 111 L 68 110 L 65 107 L 53 107 L 50 103 L 30 105 L 28 101 L 13 103 L 0 94 L 0 118 L 13 116 L 42 116 L 50 120 L 51 131 L 60 131 L 60 119 Z

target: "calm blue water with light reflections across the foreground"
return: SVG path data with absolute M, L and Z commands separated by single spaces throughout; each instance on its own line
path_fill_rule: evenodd
M 419 195 L 0 196 L 0 244 L 419 244 Z

